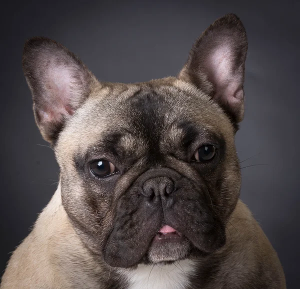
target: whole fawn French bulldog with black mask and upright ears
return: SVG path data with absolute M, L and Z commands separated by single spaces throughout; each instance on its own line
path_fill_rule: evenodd
M 60 177 L 0 288 L 286 288 L 239 199 L 246 52 L 226 14 L 176 77 L 124 84 L 98 81 L 51 39 L 27 40 L 23 71 Z

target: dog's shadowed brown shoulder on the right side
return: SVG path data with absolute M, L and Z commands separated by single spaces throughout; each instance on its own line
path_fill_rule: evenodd
M 240 199 L 228 220 L 226 246 L 218 256 L 224 254 L 226 258 L 221 262 L 222 276 L 218 279 L 229 281 L 232 286 L 252 284 L 253 288 L 285 288 L 276 251 Z

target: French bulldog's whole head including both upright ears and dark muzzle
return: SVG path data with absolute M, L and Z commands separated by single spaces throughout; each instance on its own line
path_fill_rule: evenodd
M 225 243 L 240 188 L 246 49 L 241 22 L 225 15 L 177 77 L 121 84 L 97 81 L 53 40 L 27 41 L 35 119 L 55 149 L 65 211 L 94 255 L 130 267 Z

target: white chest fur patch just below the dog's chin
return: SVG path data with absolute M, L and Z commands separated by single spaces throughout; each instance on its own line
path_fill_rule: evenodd
M 129 280 L 128 289 L 184 289 L 194 269 L 193 261 L 185 259 L 171 265 L 138 265 L 122 273 Z

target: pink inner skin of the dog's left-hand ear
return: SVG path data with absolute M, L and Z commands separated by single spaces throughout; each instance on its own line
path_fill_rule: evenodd
M 71 115 L 70 106 L 72 78 L 69 69 L 58 65 L 49 65 L 44 75 L 45 90 L 43 111 L 40 116 L 44 121 L 58 121 L 63 116 Z

